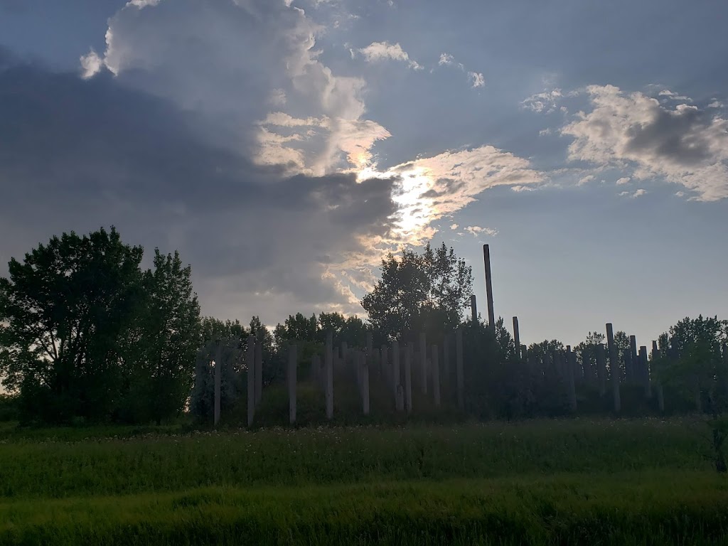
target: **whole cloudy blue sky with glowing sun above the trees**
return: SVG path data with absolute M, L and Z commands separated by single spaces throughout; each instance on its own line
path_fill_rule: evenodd
M 114 225 L 202 312 L 452 245 L 524 343 L 728 318 L 728 3 L 0 0 L 0 275 Z M 147 264 L 149 265 L 149 264 Z

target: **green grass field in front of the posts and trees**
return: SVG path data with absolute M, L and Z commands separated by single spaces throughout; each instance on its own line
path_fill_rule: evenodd
M 0 425 L 0 544 L 727 544 L 703 426 Z

